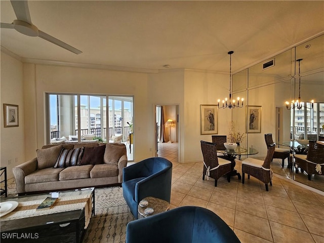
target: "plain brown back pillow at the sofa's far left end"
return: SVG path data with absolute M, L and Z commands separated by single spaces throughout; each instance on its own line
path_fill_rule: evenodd
M 62 145 L 45 149 L 37 149 L 37 169 L 42 170 L 45 168 L 53 168 L 61 150 Z

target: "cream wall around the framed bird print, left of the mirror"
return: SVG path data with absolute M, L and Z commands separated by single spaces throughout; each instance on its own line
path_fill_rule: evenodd
M 217 104 L 218 99 L 228 96 L 228 74 L 185 71 L 184 80 L 184 149 L 182 161 L 202 161 L 200 140 L 212 141 L 212 135 L 200 135 L 200 105 Z M 218 134 L 228 134 L 231 120 L 230 109 L 218 110 Z

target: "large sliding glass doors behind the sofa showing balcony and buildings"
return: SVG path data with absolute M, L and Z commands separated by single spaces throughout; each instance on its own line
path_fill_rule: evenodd
M 95 134 L 104 142 L 115 134 L 123 134 L 124 143 L 129 139 L 129 124 L 133 124 L 133 97 L 47 94 L 47 107 L 47 143 L 62 137 L 72 140 L 71 136 L 78 135 L 82 142 L 84 134 Z M 128 153 L 128 158 L 133 160 L 133 153 Z

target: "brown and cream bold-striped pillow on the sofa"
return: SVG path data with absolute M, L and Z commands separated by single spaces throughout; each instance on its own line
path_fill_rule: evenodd
M 84 147 L 77 149 L 62 148 L 60 155 L 56 160 L 54 168 L 66 168 L 69 166 L 77 166 L 83 155 Z

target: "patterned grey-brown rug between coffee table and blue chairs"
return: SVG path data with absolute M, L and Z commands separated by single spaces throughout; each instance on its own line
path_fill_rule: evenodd
M 8 180 L 8 196 L 17 195 L 14 179 Z M 95 189 L 96 215 L 91 218 L 83 243 L 126 241 L 126 226 L 134 220 L 119 186 Z

